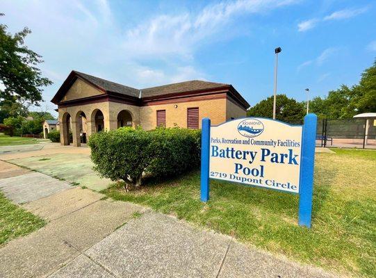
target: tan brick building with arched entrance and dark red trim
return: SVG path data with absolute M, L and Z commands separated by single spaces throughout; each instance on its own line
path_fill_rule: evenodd
M 60 142 L 80 146 L 80 136 L 120 126 L 199 129 L 203 117 L 220 124 L 245 117 L 250 106 L 230 84 L 186 81 L 135 89 L 72 71 L 51 100 L 58 105 Z

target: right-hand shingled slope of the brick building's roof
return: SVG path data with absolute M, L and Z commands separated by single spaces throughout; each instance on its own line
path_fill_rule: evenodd
M 156 95 L 167 95 L 176 92 L 190 92 L 195 90 L 205 90 L 223 87 L 229 84 L 215 83 L 209 81 L 192 80 L 157 87 L 142 89 L 141 97 L 154 97 Z

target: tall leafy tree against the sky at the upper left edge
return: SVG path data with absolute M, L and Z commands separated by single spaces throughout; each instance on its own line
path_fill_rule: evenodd
M 0 89 L 0 102 L 38 105 L 42 100 L 42 87 L 52 84 L 36 67 L 43 62 L 42 56 L 24 45 L 30 29 L 25 27 L 15 35 L 7 33 L 6 29 L 6 25 L 0 24 L 0 80 L 4 87 Z

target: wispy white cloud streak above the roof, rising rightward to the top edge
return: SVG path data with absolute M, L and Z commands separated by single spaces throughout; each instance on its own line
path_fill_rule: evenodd
M 158 15 L 126 32 L 124 49 L 133 56 L 179 55 L 191 58 L 197 45 L 213 43 L 232 19 L 245 14 L 265 13 L 293 0 L 223 1 L 206 6 L 199 13 Z M 231 32 L 221 33 L 221 38 Z

